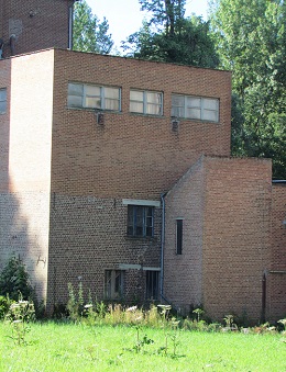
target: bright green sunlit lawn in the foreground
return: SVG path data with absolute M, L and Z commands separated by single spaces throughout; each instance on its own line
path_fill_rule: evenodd
M 10 325 L 0 323 L 1 372 L 286 371 L 286 343 L 280 334 L 174 334 L 142 327 L 139 338 L 146 335 L 154 343 L 143 342 L 140 348 L 135 326 L 35 323 L 26 346 L 16 346 L 10 335 Z

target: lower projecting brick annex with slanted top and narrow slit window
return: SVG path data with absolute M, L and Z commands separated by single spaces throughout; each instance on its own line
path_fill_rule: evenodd
M 175 218 L 184 218 L 183 255 Z M 165 294 L 258 320 L 271 257 L 271 161 L 204 157 L 166 196 Z

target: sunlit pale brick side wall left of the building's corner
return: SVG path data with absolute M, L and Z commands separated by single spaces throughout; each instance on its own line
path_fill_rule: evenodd
M 46 296 L 51 195 L 53 50 L 0 61 L 0 267 L 20 255 Z M 1 133 L 1 134 L 2 134 Z M 38 261 L 40 260 L 40 261 Z

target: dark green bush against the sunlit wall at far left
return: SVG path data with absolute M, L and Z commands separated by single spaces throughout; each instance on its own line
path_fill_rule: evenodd
M 20 294 L 29 300 L 33 296 L 33 289 L 21 259 L 11 257 L 0 274 L 0 295 L 9 295 L 11 300 L 18 301 Z

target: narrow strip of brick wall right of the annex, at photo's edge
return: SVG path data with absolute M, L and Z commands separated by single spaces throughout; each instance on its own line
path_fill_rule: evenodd
M 270 316 L 286 317 L 286 183 L 272 187 L 272 264 L 267 277 L 271 289 Z

